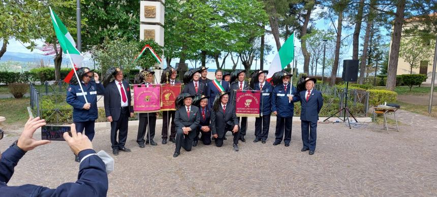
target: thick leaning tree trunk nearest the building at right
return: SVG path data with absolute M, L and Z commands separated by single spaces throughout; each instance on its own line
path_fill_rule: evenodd
M 405 0 L 399 0 L 393 26 L 393 38 L 390 49 L 390 59 L 387 68 L 387 89 L 393 91 L 396 87 L 397 61 L 399 58 L 400 36 L 402 34 Z

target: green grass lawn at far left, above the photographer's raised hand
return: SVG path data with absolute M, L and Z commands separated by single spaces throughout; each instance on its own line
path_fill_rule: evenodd
M 7 98 L 0 100 L 0 116 L 6 117 L 6 124 L 21 124 L 24 125 L 29 114 L 27 113 L 27 106 L 29 106 L 29 98 Z

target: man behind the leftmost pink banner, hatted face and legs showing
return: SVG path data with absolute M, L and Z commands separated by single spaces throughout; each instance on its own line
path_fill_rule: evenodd
M 153 84 L 154 74 L 155 72 L 150 70 L 144 70 L 140 75 L 146 76 L 146 81 L 144 81 L 144 84 L 146 87 L 149 87 L 149 85 Z M 143 83 L 141 81 L 137 81 L 137 84 Z M 158 144 L 153 141 L 153 138 L 155 137 L 155 127 L 157 122 L 157 112 L 151 112 L 151 113 L 139 113 L 138 114 L 138 134 L 137 134 L 137 143 L 140 148 L 144 148 L 144 144 L 150 144 L 152 146 L 157 146 Z M 149 134 L 146 136 L 146 130 L 147 125 L 149 126 Z M 146 136 L 146 139 L 144 141 L 144 137 Z

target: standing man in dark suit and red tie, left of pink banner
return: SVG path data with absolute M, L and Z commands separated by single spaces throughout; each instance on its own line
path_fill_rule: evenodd
M 105 114 L 108 122 L 111 122 L 112 153 L 118 155 L 118 151 L 131 152 L 124 144 L 128 138 L 129 117 L 134 116 L 134 109 L 131 106 L 129 83 L 123 81 L 123 71 L 119 68 L 108 71 L 106 75 L 114 76 L 115 80 L 105 88 Z

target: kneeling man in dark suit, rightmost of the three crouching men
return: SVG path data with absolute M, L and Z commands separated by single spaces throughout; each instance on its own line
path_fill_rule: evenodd
M 215 146 L 223 146 L 225 134 L 232 131 L 234 135 L 234 151 L 238 151 L 238 139 L 240 137 L 238 128 L 238 118 L 235 114 L 235 107 L 228 103 L 229 92 L 223 92 L 217 96 L 214 101 L 214 106 L 211 111 L 211 133 L 215 138 Z

